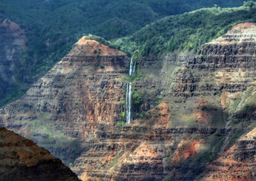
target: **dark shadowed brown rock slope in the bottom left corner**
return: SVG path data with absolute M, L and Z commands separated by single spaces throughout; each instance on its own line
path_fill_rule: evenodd
M 0 127 L 0 180 L 79 180 L 60 159 Z

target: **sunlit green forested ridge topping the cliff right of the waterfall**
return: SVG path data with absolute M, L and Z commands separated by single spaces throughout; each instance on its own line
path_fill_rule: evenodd
M 116 43 L 124 50 L 129 50 L 127 45 L 135 44 L 134 48 L 143 56 L 174 50 L 197 52 L 202 45 L 226 33 L 232 26 L 256 22 L 255 17 L 256 6 L 252 1 L 239 8 L 204 8 L 162 18 Z

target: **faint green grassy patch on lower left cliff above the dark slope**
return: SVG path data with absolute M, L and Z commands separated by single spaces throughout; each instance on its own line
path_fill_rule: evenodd
M 51 115 L 47 112 L 35 113 L 37 119 L 30 122 L 30 120 L 22 120 L 24 124 L 28 123 L 27 130 L 29 134 L 26 138 L 35 141 L 40 147 L 47 148 L 50 152 L 54 152 L 54 156 L 63 160 L 63 163 L 70 165 L 74 163 L 81 150 L 83 150 L 83 145 L 78 139 L 70 140 L 65 136 L 63 130 L 56 127 L 56 124 L 52 122 Z M 67 156 L 61 155 L 60 152 L 56 150 L 70 150 L 70 154 Z M 66 159 L 64 160 L 63 157 Z

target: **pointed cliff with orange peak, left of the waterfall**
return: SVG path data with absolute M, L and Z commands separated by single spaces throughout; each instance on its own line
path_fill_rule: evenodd
M 1 125 L 69 164 L 92 144 L 79 139 L 94 139 L 97 126 L 113 129 L 122 119 L 121 74 L 128 63 L 123 52 L 82 38 L 22 98 L 1 109 Z

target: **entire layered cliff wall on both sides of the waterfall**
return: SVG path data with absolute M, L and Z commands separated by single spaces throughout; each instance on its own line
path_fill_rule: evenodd
M 82 38 L 0 110 L 1 125 L 48 148 L 82 180 L 201 179 L 212 161 L 248 152 L 236 141 L 255 127 L 255 32 L 255 24 L 237 25 L 197 55 L 140 58 L 134 78 L 123 52 Z M 127 80 L 136 96 L 133 121 L 122 126 Z

